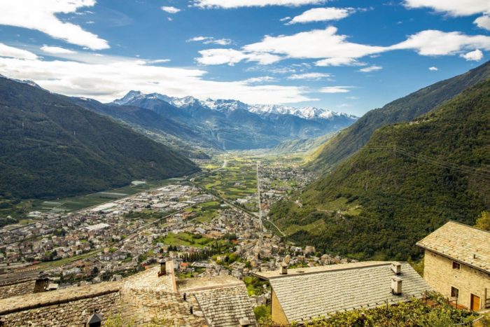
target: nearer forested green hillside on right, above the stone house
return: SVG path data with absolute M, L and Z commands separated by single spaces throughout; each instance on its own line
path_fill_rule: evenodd
M 297 200 L 295 202 L 295 200 Z M 490 81 L 411 123 L 374 132 L 358 153 L 271 210 L 296 242 L 354 258 L 419 256 L 443 223 L 490 208 Z

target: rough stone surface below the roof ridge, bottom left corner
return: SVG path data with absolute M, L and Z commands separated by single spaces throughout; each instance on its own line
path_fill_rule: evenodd
M 105 320 L 118 313 L 119 305 L 120 293 L 113 292 L 0 315 L 0 321 L 5 326 L 85 326 L 94 310 Z

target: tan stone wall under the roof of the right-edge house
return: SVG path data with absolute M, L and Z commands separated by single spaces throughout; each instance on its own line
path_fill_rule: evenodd
M 458 305 L 470 307 L 471 294 L 480 298 L 480 305 L 485 305 L 485 297 L 490 297 L 490 274 L 476 270 L 461 263 L 461 270 L 453 269 L 453 260 L 426 250 L 424 258 L 423 279 L 446 297 L 451 296 L 451 286 L 458 288 Z

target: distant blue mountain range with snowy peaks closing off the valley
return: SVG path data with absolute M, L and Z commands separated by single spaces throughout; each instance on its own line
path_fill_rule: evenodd
M 83 99 L 75 101 L 94 110 L 93 104 L 83 104 Z M 357 119 L 344 113 L 311 107 L 249 105 L 223 99 L 201 101 L 194 97 L 169 97 L 139 91 L 130 91 L 111 104 L 97 106 L 97 112 L 123 119 L 130 125 L 218 150 L 272 148 L 281 141 L 315 138 L 336 132 Z M 155 125 L 154 119 L 144 120 L 142 112 L 137 118 L 122 118 L 114 106 L 119 106 L 121 111 L 130 110 L 127 107 L 153 111 L 153 114 L 161 116 L 159 120 L 162 123 Z M 151 114 L 145 113 L 144 116 Z

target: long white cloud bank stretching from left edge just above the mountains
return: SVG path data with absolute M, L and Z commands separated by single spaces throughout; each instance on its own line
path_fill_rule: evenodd
M 10 47 L 9 47 L 10 48 Z M 9 50 L 7 48 L 7 50 Z M 9 55 L 0 45 L 0 53 Z M 27 53 L 27 51 L 26 51 Z M 18 59 L 23 54 L 31 60 Z M 279 104 L 312 101 L 307 90 L 295 86 L 249 85 L 246 81 L 220 82 L 204 78 L 201 69 L 153 66 L 148 60 L 134 58 L 95 57 L 85 55 L 87 62 L 73 60 L 36 60 L 25 53 L 0 57 L 0 74 L 11 78 L 29 79 L 52 92 L 76 97 L 91 97 L 109 102 L 129 90 L 160 92 L 183 97 L 193 95 L 239 99 L 258 104 Z M 83 54 L 78 53 L 79 57 Z M 88 62 L 92 58 L 93 62 Z

